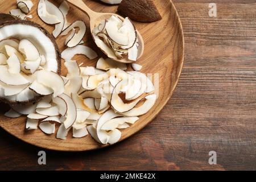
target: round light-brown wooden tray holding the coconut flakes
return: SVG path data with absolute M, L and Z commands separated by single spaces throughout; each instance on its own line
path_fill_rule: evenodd
M 0 1 L 1 13 L 9 13 L 11 9 L 16 9 L 15 0 L 8 1 L 8 3 L 3 2 L 3 0 Z M 33 2 L 34 6 L 31 13 L 33 18 L 31 20 L 39 23 L 49 32 L 52 32 L 53 27 L 43 23 L 36 14 L 38 1 Z M 52 2 L 57 5 L 61 1 Z M 117 6 L 103 5 L 102 3 L 89 0 L 86 0 L 85 3 L 92 10 L 97 12 L 115 13 L 117 11 Z M 154 23 L 134 23 L 139 32 L 141 32 L 145 43 L 144 55 L 138 60 L 138 64 L 143 65 L 141 72 L 152 73 L 152 75 L 156 73 L 159 75 L 159 90 L 157 90 L 159 97 L 155 106 L 147 114 L 142 115 L 139 121 L 129 129 L 122 130 L 121 140 L 126 139 L 143 129 L 143 127 L 150 123 L 160 110 L 163 109 L 164 105 L 166 105 L 167 101 L 170 100 L 170 97 L 174 92 L 183 67 L 184 37 L 179 15 L 170 0 L 155 1 L 155 4 L 159 9 L 160 14 L 163 16 L 162 20 Z M 87 16 L 80 10 L 71 6 L 71 10 L 68 14 L 68 21 L 73 22 L 75 20 L 85 20 L 86 26 L 88 26 L 89 30 L 89 19 Z M 63 36 L 60 36 L 56 40 L 60 47 L 60 51 L 63 51 L 65 48 L 64 40 L 65 37 Z M 104 56 L 97 49 L 95 44 L 92 43 L 89 31 L 87 31 L 84 41 L 87 46 L 97 50 L 98 55 Z M 73 60 L 77 60 L 79 63 L 84 63 L 83 66 L 96 66 L 97 61 L 97 59 L 86 59 L 85 56 L 81 55 L 77 55 Z M 67 70 L 63 65 L 62 74 L 65 75 L 66 73 Z M 157 76 L 155 76 L 155 78 L 157 78 Z M 158 86 L 156 85 L 156 87 Z M 87 151 L 108 146 L 95 142 L 90 135 L 76 139 L 72 138 L 72 132 L 69 132 L 67 140 L 60 140 L 55 138 L 55 134 L 46 135 L 40 130 L 25 131 L 26 117 L 20 117 L 17 119 L 6 118 L 3 114 L 9 109 L 8 106 L 1 105 L 0 108 L 0 126 L 11 135 L 35 146 L 58 151 Z

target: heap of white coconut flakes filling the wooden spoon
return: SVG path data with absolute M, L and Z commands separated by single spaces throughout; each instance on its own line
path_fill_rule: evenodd
M 137 30 L 129 18 L 122 22 L 117 16 L 111 16 L 105 23 L 101 22 L 94 27 L 93 38 L 109 58 L 117 59 L 128 55 L 130 61 L 137 60 Z

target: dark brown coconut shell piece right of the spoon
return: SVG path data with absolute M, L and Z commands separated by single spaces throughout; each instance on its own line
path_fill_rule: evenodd
M 156 22 L 162 19 L 152 0 L 122 0 L 118 12 L 137 22 Z

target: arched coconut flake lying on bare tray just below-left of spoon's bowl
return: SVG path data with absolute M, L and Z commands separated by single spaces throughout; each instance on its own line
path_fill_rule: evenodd
M 67 48 L 61 53 L 61 57 L 64 60 L 71 60 L 75 55 L 85 55 L 89 59 L 95 59 L 98 57 L 97 53 L 92 48 L 87 46 L 78 45 L 76 47 Z

